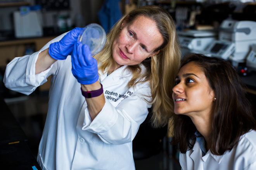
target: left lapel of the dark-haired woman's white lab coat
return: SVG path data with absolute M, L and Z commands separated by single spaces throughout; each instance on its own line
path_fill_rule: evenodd
M 194 162 L 194 170 L 203 170 L 202 151 L 197 141 L 195 141 L 195 145 L 192 150 L 193 152 L 190 154 L 190 158 Z

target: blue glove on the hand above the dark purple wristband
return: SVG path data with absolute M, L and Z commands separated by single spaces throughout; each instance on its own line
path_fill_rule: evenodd
M 97 60 L 86 44 L 75 42 L 71 54 L 72 73 L 81 84 L 92 84 L 99 79 Z

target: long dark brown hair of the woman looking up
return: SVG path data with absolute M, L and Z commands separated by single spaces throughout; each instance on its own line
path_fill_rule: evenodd
M 256 120 L 246 98 L 245 86 L 227 60 L 192 53 L 184 57 L 181 67 L 191 61 L 204 71 L 214 90 L 216 101 L 213 102 L 212 131 L 208 146 L 214 155 L 223 155 L 237 145 L 241 135 L 251 129 L 256 130 Z M 192 149 L 196 128 L 190 117 L 175 115 L 172 126 L 172 144 L 179 144 L 181 153 Z

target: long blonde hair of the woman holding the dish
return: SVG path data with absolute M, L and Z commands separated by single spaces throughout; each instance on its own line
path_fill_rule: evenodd
M 175 24 L 168 12 L 159 6 L 149 5 L 132 10 L 123 16 L 107 34 L 107 41 L 100 53 L 94 58 L 102 64 L 99 70 L 107 71 L 109 68 L 116 68 L 116 62 L 112 58 L 112 43 L 119 35 L 122 24 L 132 24 L 138 16 L 145 16 L 153 20 L 163 36 L 164 42 L 155 51 L 159 53 L 147 58 L 139 65 L 128 66 L 133 77 L 128 82 L 128 87 L 135 86 L 139 82 L 149 81 L 152 95 L 152 124 L 155 127 L 168 124 L 169 118 L 173 115 L 172 88 L 174 79 L 180 66 L 180 46 L 176 35 Z M 140 65 L 146 68 L 141 73 Z

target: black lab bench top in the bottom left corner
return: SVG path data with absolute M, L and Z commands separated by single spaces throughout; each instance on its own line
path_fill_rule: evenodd
M 5 170 L 41 170 L 27 145 L 27 137 L 0 97 L 0 165 Z

